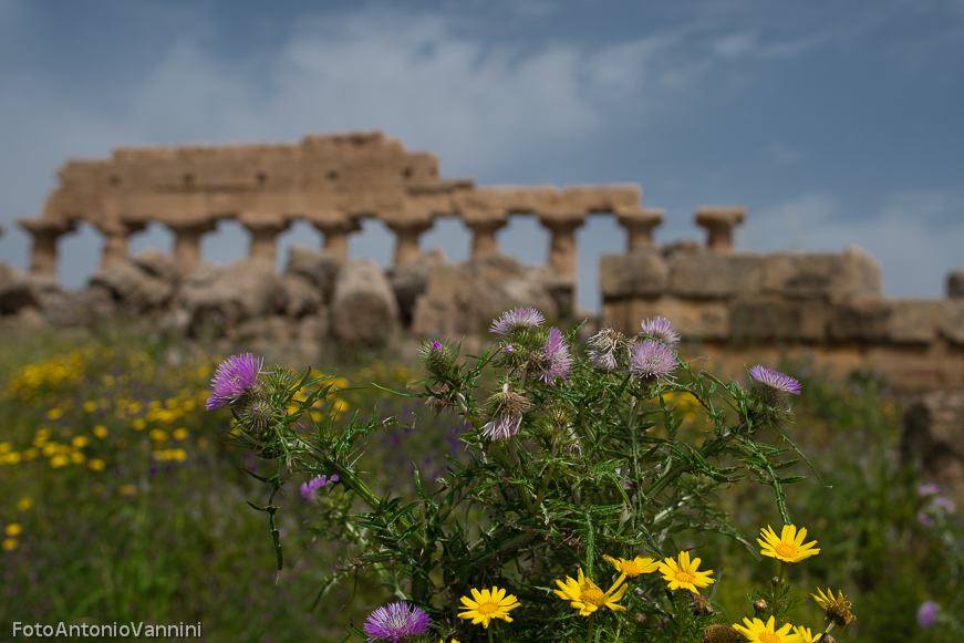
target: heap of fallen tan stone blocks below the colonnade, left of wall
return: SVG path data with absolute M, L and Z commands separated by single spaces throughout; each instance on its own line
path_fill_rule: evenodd
M 173 256 L 147 249 L 108 263 L 79 291 L 0 262 L 0 322 L 85 326 L 126 313 L 158 332 L 236 342 L 382 344 L 403 328 L 417 336 L 473 334 L 514 305 L 558 318 L 571 293 L 571 282 L 543 268 L 504 256 L 450 265 L 438 249 L 386 272 L 296 247 L 281 274 L 265 259 L 200 263 L 185 274 Z

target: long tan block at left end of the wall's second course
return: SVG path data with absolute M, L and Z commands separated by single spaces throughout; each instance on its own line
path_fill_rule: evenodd
M 601 323 L 614 325 L 629 335 L 642 330 L 645 319 L 670 320 L 684 342 L 725 340 L 729 336 L 729 311 L 722 301 L 692 301 L 663 297 L 631 299 L 603 304 Z

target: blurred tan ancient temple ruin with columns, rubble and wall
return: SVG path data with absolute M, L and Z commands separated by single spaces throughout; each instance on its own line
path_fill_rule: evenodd
M 880 268 L 859 249 L 842 253 L 758 255 L 734 250 L 746 212 L 701 207 L 705 241 L 655 246 L 662 210 L 644 209 L 635 185 L 479 187 L 439 177 L 438 159 L 411 153 L 379 133 L 308 136 L 291 145 L 122 148 L 72 160 L 37 218 L 29 276 L 0 263 L 0 315 L 70 324 L 129 310 L 158 328 L 188 333 L 214 323 L 229 339 L 382 341 L 392 329 L 417 335 L 485 332 L 510 305 L 572 315 L 576 230 L 594 212 L 615 216 L 626 250 L 602 257 L 602 312 L 594 324 L 630 332 L 643 318 L 670 319 L 694 354 L 776 363 L 805 351 L 838 369 L 873 369 L 894 386 L 964 385 L 964 273 L 940 300 L 889 300 Z M 496 232 L 509 215 L 529 214 L 549 231 L 547 266 L 499 253 Z M 349 261 L 348 238 L 363 218 L 395 235 L 393 267 Z M 419 236 L 438 217 L 471 231 L 471 258 L 448 265 L 423 252 Z M 250 234 L 248 259 L 229 268 L 201 261 L 200 239 L 219 219 Z M 276 238 L 305 220 L 323 248 L 296 247 L 282 274 Z M 55 283 L 56 240 L 87 221 L 105 238 L 90 288 Z M 173 230 L 173 256 L 128 257 L 128 238 L 148 224 Z

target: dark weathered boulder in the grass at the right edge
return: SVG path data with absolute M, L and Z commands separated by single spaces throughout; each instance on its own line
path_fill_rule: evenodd
M 964 507 L 964 391 L 921 395 L 904 413 L 901 457 L 921 461 L 922 477 Z

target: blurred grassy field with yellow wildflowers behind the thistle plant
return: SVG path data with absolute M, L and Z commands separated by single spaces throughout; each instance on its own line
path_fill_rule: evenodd
M 350 552 L 312 540 L 315 511 L 298 494 L 301 479 L 276 502 L 287 554 L 277 573 L 267 517 L 246 505 L 268 500 L 246 470 L 268 475 L 273 464 L 222 444 L 230 415 L 204 409 L 209 380 L 232 352 L 133 326 L 0 339 L 0 640 L 14 621 L 83 619 L 200 622 L 210 641 L 340 641 L 350 623 L 361 625 L 391 598 L 359 574 L 315 604 Z M 308 365 L 290 359 L 284 365 L 296 371 Z M 414 351 L 400 357 L 329 350 L 311 366 L 346 388 L 332 401 L 335 412 L 375 409 L 414 422 L 374 434 L 364 449 L 361 465 L 377 475 L 381 494 L 412 496 L 413 467 L 432 480 L 445 471 L 446 457 L 459 457 L 465 427 L 456 417 L 352 388 L 374 382 L 404 390 L 422 377 Z M 958 515 L 929 509 L 913 468 L 896 461 L 901 402 L 869 375 L 830 382 L 806 365 L 785 367 L 805 392 L 795 439 L 832 485 L 810 475 L 788 489 L 795 522 L 821 548 L 791 575 L 796 595 L 808 599 L 799 622 L 820 623 L 809 593 L 829 587 L 848 593 L 858 616 L 837 632 L 839 641 L 957 641 L 915 618 L 925 600 L 949 606 L 956 598 L 960 609 L 962 529 Z M 698 433 L 697 409 L 672 402 Z M 809 474 L 800 465 L 792 473 Z M 779 530 L 761 487 L 724 492 L 721 502 L 751 542 L 760 527 Z M 716 602 L 738 621 L 746 591 L 776 567 L 723 538 L 704 547 L 699 556 L 723 571 Z

